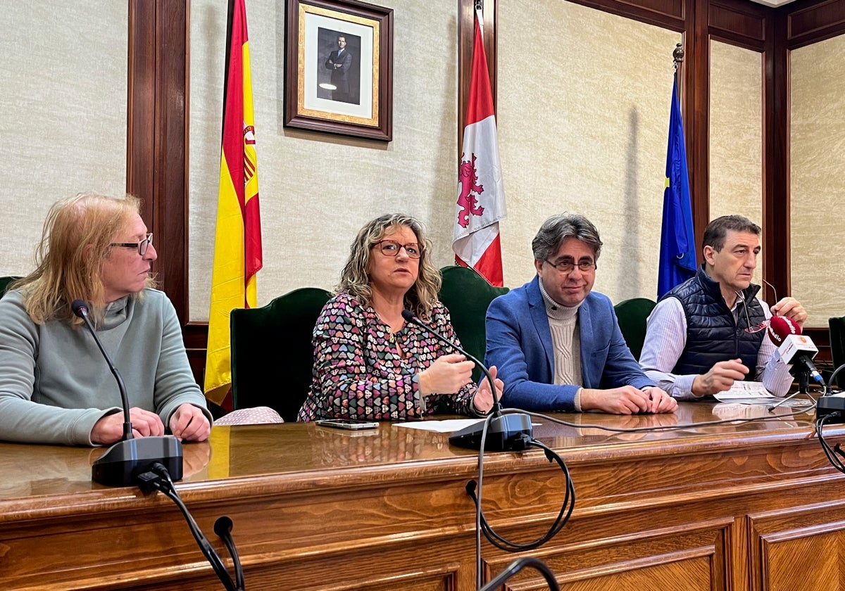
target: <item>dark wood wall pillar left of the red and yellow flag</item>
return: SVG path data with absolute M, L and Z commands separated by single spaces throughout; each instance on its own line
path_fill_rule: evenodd
M 129 0 L 127 191 L 155 234 L 153 271 L 188 320 L 188 0 Z

